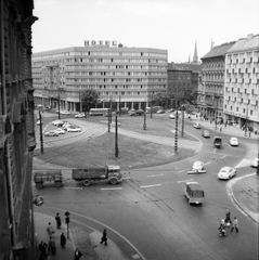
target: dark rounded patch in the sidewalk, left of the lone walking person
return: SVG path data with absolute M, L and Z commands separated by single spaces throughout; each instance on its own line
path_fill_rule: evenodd
M 93 249 L 94 245 L 92 245 L 88 232 L 81 227 L 75 226 L 70 229 L 70 233 L 75 247 L 78 248 L 83 256 L 88 256 L 88 259 L 95 259 L 96 256 Z

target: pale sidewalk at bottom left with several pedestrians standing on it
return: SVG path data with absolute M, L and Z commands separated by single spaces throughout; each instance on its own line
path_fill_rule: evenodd
M 41 240 L 48 245 L 49 236 L 47 233 L 47 225 L 51 222 L 54 227 L 55 233 L 52 238 L 56 245 L 56 255 L 52 256 L 51 252 L 48 252 L 48 259 L 73 260 L 74 252 L 76 248 L 78 248 L 86 260 L 127 260 L 125 255 L 111 239 L 108 239 L 108 246 L 100 245 L 102 233 L 96 231 L 89 233 L 73 224 L 70 224 L 72 226 L 69 227 L 69 239 L 66 239 L 66 247 L 62 248 L 60 245 L 60 237 L 61 234 L 64 233 L 67 238 L 66 224 L 62 223 L 61 230 L 57 230 L 55 229 L 55 220 L 53 217 L 39 212 L 35 212 L 34 217 L 37 245 L 39 245 Z

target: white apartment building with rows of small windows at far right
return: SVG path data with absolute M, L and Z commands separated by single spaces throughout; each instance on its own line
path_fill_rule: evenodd
M 228 120 L 259 130 L 259 35 L 239 39 L 225 54 L 224 107 Z

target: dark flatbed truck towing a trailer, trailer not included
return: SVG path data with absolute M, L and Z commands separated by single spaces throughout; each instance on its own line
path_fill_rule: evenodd
M 116 165 L 107 165 L 101 168 L 73 169 L 72 178 L 77 182 L 81 182 L 83 186 L 89 186 L 92 181 L 107 180 L 112 185 L 122 181 L 120 167 Z

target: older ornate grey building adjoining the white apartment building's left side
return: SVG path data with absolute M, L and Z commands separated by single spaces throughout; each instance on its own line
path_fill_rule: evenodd
M 234 43 L 235 41 L 213 47 L 200 58 L 202 81 L 198 86 L 197 105 L 200 115 L 210 121 L 224 121 L 225 53 Z

